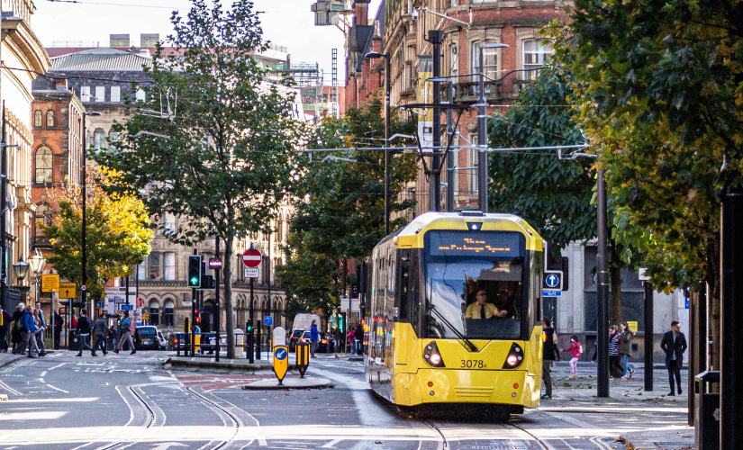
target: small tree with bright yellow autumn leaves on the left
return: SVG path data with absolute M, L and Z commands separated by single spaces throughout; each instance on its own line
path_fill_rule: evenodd
M 104 184 L 116 174 L 98 168 L 98 181 Z M 79 187 L 54 198 L 59 214 L 41 232 L 50 239 L 53 253 L 47 261 L 59 276 L 77 284 L 82 282 L 82 194 Z M 88 190 L 86 204 L 87 293 L 100 299 L 104 286 L 112 279 L 131 275 L 131 268 L 150 255 L 154 232 L 150 214 L 135 193 L 105 193 L 101 184 Z

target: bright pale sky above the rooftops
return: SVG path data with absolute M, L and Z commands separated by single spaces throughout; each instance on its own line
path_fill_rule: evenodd
M 369 16 L 374 17 L 382 0 L 372 0 Z M 225 2 L 226 4 L 227 2 Z M 254 0 L 256 11 L 262 14 L 264 37 L 288 47 L 292 61 L 318 62 L 331 79 L 331 50 L 338 49 L 339 78 L 343 82 L 343 33 L 334 26 L 314 26 L 310 11 L 313 0 Z M 107 45 L 110 34 L 129 33 L 134 45 L 140 43 L 140 33 L 159 33 L 164 39 L 173 31 L 170 16 L 174 9 L 186 14 L 188 0 L 34 0 L 36 14 L 32 29 L 45 46 Z M 155 7 L 152 7 L 155 6 Z M 69 44 L 60 44 L 68 41 Z

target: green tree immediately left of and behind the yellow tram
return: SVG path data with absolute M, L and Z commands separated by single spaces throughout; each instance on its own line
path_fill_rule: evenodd
M 381 147 L 385 142 L 383 105 L 374 100 L 352 108 L 341 120 L 325 118 L 313 130 L 310 148 Z M 391 117 L 394 133 L 412 134 L 414 123 Z M 395 141 L 397 144 L 398 141 Z M 404 141 L 400 141 L 403 144 Z M 339 260 L 363 258 L 385 234 L 385 154 L 382 151 L 316 153 L 301 159 L 304 177 L 290 225 L 287 263 L 276 268 L 287 296 L 304 311 L 331 313 L 340 298 Z M 397 193 L 416 174 L 415 156 L 391 155 L 392 213 L 412 208 Z M 403 225 L 400 217 L 391 229 Z M 348 280 L 347 284 L 348 284 Z M 289 304 L 290 302 L 287 302 Z

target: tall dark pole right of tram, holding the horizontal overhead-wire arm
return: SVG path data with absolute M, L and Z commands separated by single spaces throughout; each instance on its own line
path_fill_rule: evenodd
M 596 253 L 596 303 L 599 348 L 597 358 L 596 395 L 609 397 L 609 283 L 606 270 L 606 182 L 604 169 L 599 169 L 596 185 L 598 203 L 598 251 Z

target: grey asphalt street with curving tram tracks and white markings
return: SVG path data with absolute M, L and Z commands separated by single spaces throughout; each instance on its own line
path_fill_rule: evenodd
M 685 403 L 621 395 L 597 404 L 580 384 L 507 423 L 467 410 L 417 419 L 368 390 L 361 362 L 313 359 L 309 376 L 330 378 L 331 389 L 246 391 L 240 387 L 273 375 L 165 370 L 167 356 L 58 352 L 5 365 L 0 393 L 10 400 L 0 401 L 0 450 L 606 450 L 624 448 L 614 442 L 622 433 L 686 420 Z

